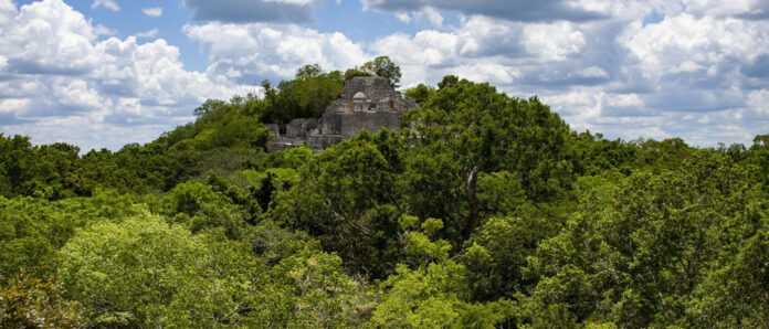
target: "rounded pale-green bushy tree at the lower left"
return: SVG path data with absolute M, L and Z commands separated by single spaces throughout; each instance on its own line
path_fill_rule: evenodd
M 247 244 L 209 232 L 194 236 L 147 212 L 83 230 L 61 251 L 67 297 L 97 327 L 257 320 L 268 311 L 265 265 Z

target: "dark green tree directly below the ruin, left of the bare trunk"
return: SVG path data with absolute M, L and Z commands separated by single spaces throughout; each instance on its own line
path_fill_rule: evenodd
M 266 217 L 316 236 L 354 273 L 384 277 L 399 256 L 396 178 L 404 140 L 361 131 L 313 157 L 302 179 L 276 193 Z

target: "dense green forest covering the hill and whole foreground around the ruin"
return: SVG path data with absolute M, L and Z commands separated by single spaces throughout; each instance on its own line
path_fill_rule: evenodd
M 0 327 L 769 327 L 769 135 L 578 132 L 445 76 L 402 129 L 265 152 L 379 57 L 118 151 L 0 134 Z

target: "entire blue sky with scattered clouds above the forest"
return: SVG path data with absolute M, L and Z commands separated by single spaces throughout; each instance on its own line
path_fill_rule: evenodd
M 379 55 L 402 88 L 488 82 L 611 139 L 769 134 L 767 0 L 0 0 L 0 131 L 118 150 Z

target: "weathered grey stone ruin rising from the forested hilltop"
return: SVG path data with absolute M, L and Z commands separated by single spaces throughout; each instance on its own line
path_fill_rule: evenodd
M 380 128 L 399 129 L 400 115 L 418 106 L 413 99 L 396 92 L 384 77 L 356 76 L 345 82 L 337 99 L 319 118 L 265 125 L 275 132 L 275 137 L 267 142 L 267 151 L 285 150 L 307 142 L 310 149 L 318 152 L 362 129 L 371 132 Z

